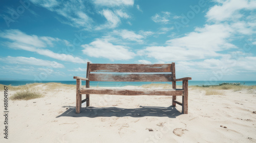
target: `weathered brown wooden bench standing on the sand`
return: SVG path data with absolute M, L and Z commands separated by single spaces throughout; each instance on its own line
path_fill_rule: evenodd
M 173 96 L 173 106 L 181 105 L 184 114 L 187 114 L 188 111 L 188 80 L 191 78 L 176 79 L 174 62 L 172 64 L 96 64 L 88 62 L 87 78 L 74 77 L 74 79 L 76 79 L 76 113 L 81 112 L 82 103 L 87 102 L 86 107 L 90 106 L 90 94 Z M 81 88 L 82 80 L 86 81 L 86 88 Z M 90 81 L 172 82 L 173 89 L 97 89 L 90 88 Z M 182 89 L 176 89 L 176 81 L 182 81 Z M 81 99 L 82 94 L 86 94 L 86 99 Z M 176 101 L 176 96 L 182 96 L 182 103 Z

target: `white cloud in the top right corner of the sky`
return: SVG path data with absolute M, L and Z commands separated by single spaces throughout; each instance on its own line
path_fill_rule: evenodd
M 236 20 L 243 17 L 239 13 L 241 10 L 251 10 L 256 8 L 256 1 L 247 0 L 227 0 L 217 1 L 220 5 L 211 7 L 206 17 L 209 21 Z

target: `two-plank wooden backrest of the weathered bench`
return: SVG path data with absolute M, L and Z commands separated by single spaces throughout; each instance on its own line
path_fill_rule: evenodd
M 175 63 L 96 64 L 88 62 L 87 78 L 89 81 L 170 82 L 176 78 Z

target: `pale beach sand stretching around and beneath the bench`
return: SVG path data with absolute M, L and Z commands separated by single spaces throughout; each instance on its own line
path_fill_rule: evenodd
M 76 114 L 75 88 L 37 86 L 44 98 L 9 100 L 8 139 L 1 115 L 0 142 L 256 142 L 256 94 L 245 90 L 205 96 L 189 87 L 188 114 L 172 97 L 91 95 L 91 107 Z

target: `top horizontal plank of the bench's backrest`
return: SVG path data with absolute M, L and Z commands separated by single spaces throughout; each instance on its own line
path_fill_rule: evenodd
M 172 64 L 90 64 L 90 72 L 168 73 Z

